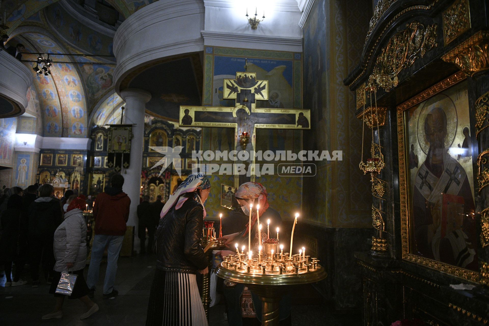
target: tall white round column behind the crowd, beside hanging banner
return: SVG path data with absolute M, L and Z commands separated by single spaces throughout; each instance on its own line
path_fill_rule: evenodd
M 131 208 L 127 225 L 134 226 L 134 250 L 139 252 L 139 238 L 137 237 L 136 208 L 139 205 L 141 193 L 141 168 L 144 146 L 144 111 L 146 102 L 151 94 L 142 89 L 127 88 L 120 92 L 126 101 L 124 105 L 124 124 L 133 125 L 133 140 L 131 142 L 131 165 L 129 169 L 122 169 L 124 186 L 122 190 L 131 198 Z

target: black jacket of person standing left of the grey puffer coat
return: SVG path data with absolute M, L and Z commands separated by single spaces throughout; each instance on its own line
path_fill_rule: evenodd
M 29 205 L 29 237 L 52 238 L 62 222 L 59 199 L 39 197 Z

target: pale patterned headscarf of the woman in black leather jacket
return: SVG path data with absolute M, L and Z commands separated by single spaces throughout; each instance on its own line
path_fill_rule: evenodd
M 161 214 L 159 215 L 160 217 L 164 217 L 175 205 L 175 210 L 178 210 L 179 208 L 182 207 L 183 203 L 188 199 L 186 196 L 182 196 L 185 193 L 192 193 L 196 191 L 197 189 L 207 189 L 211 187 L 211 183 L 209 181 L 209 178 L 205 174 L 201 173 L 193 173 L 187 176 L 185 180 L 183 180 L 182 183 L 178 186 L 178 188 L 175 190 L 175 192 L 170 195 L 170 198 L 168 198 L 168 201 L 166 202 L 165 206 L 163 206 L 163 209 L 161 210 Z M 196 201 L 200 202 L 204 209 L 204 218 L 207 215 L 207 212 L 205 212 L 205 207 L 203 203 L 200 201 L 200 197 L 197 195 L 194 198 Z

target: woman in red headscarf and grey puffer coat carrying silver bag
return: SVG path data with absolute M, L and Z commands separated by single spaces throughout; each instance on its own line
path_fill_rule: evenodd
M 63 303 L 65 295 L 56 293 L 56 287 L 61 279 L 61 273 L 68 272 L 77 275 L 73 292 L 69 299 L 79 299 L 87 307 L 87 312 L 80 316 L 80 319 L 90 317 L 98 311 L 98 305 L 93 303 L 89 297 L 89 288 L 83 277 L 83 269 L 87 260 L 87 224 L 83 217 L 85 210 L 85 197 L 75 197 L 72 195 L 67 200 L 67 211 L 65 220 L 54 232 L 54 265 L 53 282 L 49 289 L 50 294 L 54 294 L 56 305 L 54 310 L 42 319 L 52 319 L 63 317 Z

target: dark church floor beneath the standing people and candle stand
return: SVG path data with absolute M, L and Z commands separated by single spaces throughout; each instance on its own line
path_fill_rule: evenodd
M 102 264 L 105 267 L 105 264 Z M 102 282 L 104 268 L 101 268 L 100 288 L 93 299 L 100 310 L 86 320 L 79 316 L 84 313 L 79 300 L 65 300 L 62 319 L 41 320 L 41 316 L 50 312 L 54 298 L 47 292 L 49 285 L 41 283 L 38 288 L 30 284 L 17 287 L 4 287 L 5 276 L 0 278 L 0 325 L 52 325 L 52 326 L 139 326 L 144 325 L 152 276 L 155 270 L 155 256 L 145 255 L 133 258 L 120 258 L 115 288 L 119 296 L 111 300 L 102 299 Z M 28 272 L 26 268 L 26 272 Z M 85 273 L 87 270 L 85 271 Z M 28 278 L 25 278 L 28 280 Z M 353 326 L 361 325 L 360 316 L 356 314 L 333 315 L 328 305 L 317 304 L 319 298 L 312 287 L 303 291 L 292 305 L 293 326 Z M 224 304 L 218 304 L 210 310 L 210 326 L 228 326 L 223 320 Z

